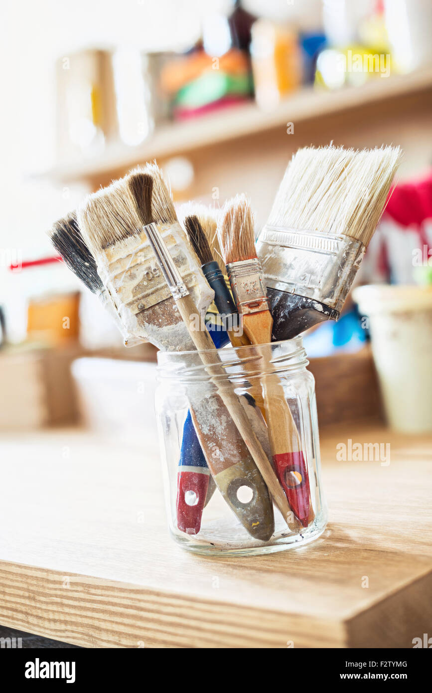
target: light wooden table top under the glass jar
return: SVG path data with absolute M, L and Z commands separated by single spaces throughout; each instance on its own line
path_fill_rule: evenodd
M 390 464 L 336 445 L 389 443 Z M 321 436 L 327 530 L 265 556 L 168 535 L 156 443 L 0 439 L 0 624 L 85 647 L 412 647 L 431 630 L 432 438 Z

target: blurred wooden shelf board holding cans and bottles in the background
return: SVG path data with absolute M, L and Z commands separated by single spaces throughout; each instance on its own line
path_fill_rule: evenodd
M 377 77 L 361 87 L 346 87 L 339 91 L 304 87 L 269 112 L 258 108 L 255 103 L 231 107 L 194 121 L 166 125 L 156 130 L 141 146 L 111 146 L 101 157 L 59 164 L 41 175 L 55 182 L 94 181 L 144 161 L 187 153 L 217 143 L 229 143 L 239 137 L 286 128 L 289 122 L 296 124 L 307 119 L 319 119 L 327 114 L 364 107 L 388 98 L 404 97 L 431 87 L 432 67 L 404 76 Z

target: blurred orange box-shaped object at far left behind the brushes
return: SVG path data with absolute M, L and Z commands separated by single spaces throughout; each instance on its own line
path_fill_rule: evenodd
M 27 313 L 27 336 L 32 341 L 57 347 L 78 341 L 80 292 L 31 298 Z

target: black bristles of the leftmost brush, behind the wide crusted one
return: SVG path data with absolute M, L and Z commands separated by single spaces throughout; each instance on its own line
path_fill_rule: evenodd
M 93 255 L 84 243 L 75 213 L 72 212 L 57 220 L 49 235 L 51 243 L 73 274 L 91 292 L 100 291 L 103 285 L 98 274 L 98 268 Z

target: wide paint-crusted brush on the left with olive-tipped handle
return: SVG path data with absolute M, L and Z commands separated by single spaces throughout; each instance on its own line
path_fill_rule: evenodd
M 192 263 L 194 272 L 206 282 L 199 261 L 179 227 L 168 188 L 159 169 L 147 165 L 144 170 L 134 172 L 127 179 L 122 179 L 111 184 L 109 188 L 91 195 L 79 210 L 78 219 L 84 240 L 92 247 L 98 261 L 98 272 L 101 277 L 106 277 L 107 285 L 116 296 L 120 314 L 132 331 L 135 330 L 152 342 L 157 340 L 163 345 L 163 349 L 169 351 L 181 349 L 179 341 L 184 341 L 183 331 L 186 331 L 188 341 L 193 347 L 194 342 L 189 339 L 190 331 L 183 323 L 183 318 L 180 317 L 182 329 L 179 329 L 178 319 L 175 322 L 171 319 L 172 310 L 179 315 L 173 299 L 170 314 L 167 316 L 165 313 L 164 301 L 167 299 L 167 290 L 171 296 L 172 294 L 161 275 L 160 266 L 147 239 L 146 229 L 143 228 L 144 222 L 156 220 L 155 227 L 158 232 L 161 230 L 161 237 L 166 240 L 167 247 L 170 247 L 177 271 L 185 272 L 191 293 L 197 287 L 197 277 L 189 277 Z M 175 238 L 177 234 L 179 243 Z M 183 247 L 183 243 L 186 247 Z M 151 268 L 152 277 L 147 279 L 143 265 L 145 268 Z M 130 272 L 132 267 L 134 270 Z M 123 278 L 128 272 L 125 286 Z M 157 296 L 152 295 L 147 281 L 152 283 Z M 183 285 L 188 287 L 186 279 L 182 279 Z M 207 295 L 211 300 L 213 292 L 208 285 L 206 286 Z M 187 290 L 189 291 L 189 287 Z M 188 297 L 192 300 L 190 294 Z M 148 322 L 148 315 L 141 316 L 141 313 L 145 312 L 145 300 L 152 309 L 151 324 Z M 157 306 L 160 306 L 161 310 L 158 311 Z M 195 306 L 195 318 L 197 317 L 199 312 Z M 157 321 L 156 332 L 153 329 L 153 321 Z M 209 407 L 208 410 L 205 408 L 206 405 Z M 206 392 L 203 401 L 194 400 L 194 407 L 190 407 L 190 411 L 201 449 L 206 455 L 206 462 L 226 502 L 252 536 L 267 541 L 274 527 L 269 492 L 226 408 L 223 407 L 221 411 L 215 397 L 209 397 Z M 213 462 L 213 466 L 210 461 Z M 245 482 L 251 486 L 251 502 L 244 504 L 237 498 L 233 491 L 237 482 L 240 485 Z M 228 495 L 228 491 L 231 495 Z

